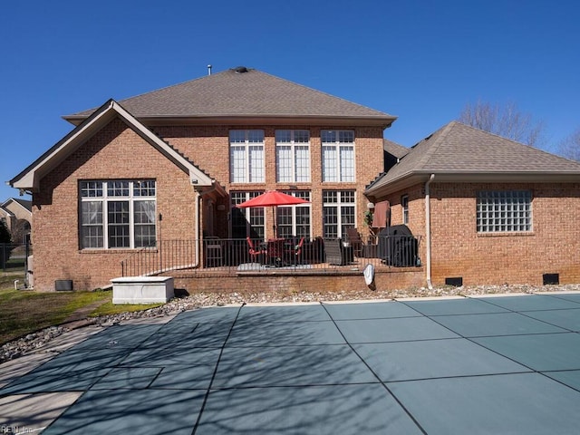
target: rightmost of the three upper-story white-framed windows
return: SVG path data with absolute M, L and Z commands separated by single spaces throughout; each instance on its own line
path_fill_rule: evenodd
M 353 182 L 354 131 L 324 130 L 320 136 L 323 147 L 323 181 Z

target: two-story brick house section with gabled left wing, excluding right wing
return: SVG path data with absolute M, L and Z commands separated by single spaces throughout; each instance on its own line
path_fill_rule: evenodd
M 310 202 L 283 235 L 344 237 L 396 118 L 239 67 L 64 119 L 73 131 L 10 181 L 33 196 L 39 290 L 109 285 L 156 241 L 272 237 L 268 213 L 236 208 L 269 189 Z

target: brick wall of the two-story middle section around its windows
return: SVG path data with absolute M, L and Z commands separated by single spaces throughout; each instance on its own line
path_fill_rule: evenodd
M 264 130 L 265 133 L 265 183 L 236 183 L 229 181 L 229 131 L 231 129 Z M 368 199 L 362 192 L 366 185 L 382 172 L 382 129 L 380 128 L 354 128 L 340 127 L 341 130 L 354 130 L 355 132 L 355 158 L 356 158 L 356 181 L 353 183 L 323 183 L 322 181 L 322 145 L 320 131 L 335 130 L 336 127 L 312 127 L 304 125 L 295 126 L 216 126 L 216 127 L 155 127 L 160 136 L 167 140 L 171 146 L 182 152 L 189 160 L 198 167 L 206 170 L 212 178 L 218 179 L 219 183 L 227 191 L 231 190 L 288 190 L 290 186 L 297 189 L 308 189 L 311 192 L 312 208 L 312 232 L 313 236 L 323 234 L 322 221 L 322 198 L 323 189 L 355 189 L 357 191 L 357 227 L 364 230 L 362 213 L 366 210 Z M 310 131 L 310 183 L 276 183 L 275 181 L 275 131 L 276 130 L 308 130 Z M 378 156 L 378 157 L 377 157 Z M 229 237 L 227 233 L 227 210 L 229 204 L 222 199 L 218 204 L 226 206 L 226 211 L 217 216 L 219 228 L 217 236 Z M 268 222 L 271 215 L 266 213 L 266 228 L 271 228 Z

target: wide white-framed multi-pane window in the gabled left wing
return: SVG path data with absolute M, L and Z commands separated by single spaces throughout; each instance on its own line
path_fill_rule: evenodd
M 81 248 L 155 247 L 155 180 L 81 181 Z

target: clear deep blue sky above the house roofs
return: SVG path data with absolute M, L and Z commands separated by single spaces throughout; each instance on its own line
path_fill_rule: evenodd
M 238 65 L 397 115 L 411 146 L 469 102 L 514 102 L 546 149 L 580 129 L 573 0 L 70 0 L 0 14 L 0 200 L 64 114 Z

